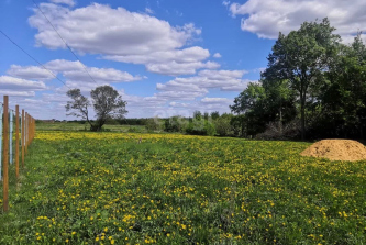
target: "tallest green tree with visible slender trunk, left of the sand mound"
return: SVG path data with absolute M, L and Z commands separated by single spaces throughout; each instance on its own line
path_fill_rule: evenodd
M 325 18 L 321 22 L 304 22 L 287 36 L 279 33 L 268 67 L 263 76 L 269 80 L 288 80 L 297 92 L 300 104 L 301 138 L 306 133 L 306 104 L 323 80 L 337 52 L 340 36 Z

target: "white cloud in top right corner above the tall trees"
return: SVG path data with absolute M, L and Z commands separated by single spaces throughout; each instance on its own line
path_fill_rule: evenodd
M 344 42 L 353 41 L 357 31 L 365 30 L 366 1 L 354 0 L 248 0 L 232 3 L 232 15 L 244 15 L 241 29 L 263 38 L 277 38 L 278 33 L 298 30 L 304 21 L 328 16 Z

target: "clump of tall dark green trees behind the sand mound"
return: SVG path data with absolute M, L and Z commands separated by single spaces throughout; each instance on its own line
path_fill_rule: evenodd
M 365 137 L 365 44 L 358 33 L 353 44 L 344 45 L 334 30 L 324 19 L 279 34 L 262 79 L 231 105 L 243 115 L 246 134 Z

